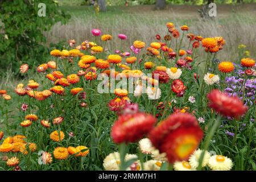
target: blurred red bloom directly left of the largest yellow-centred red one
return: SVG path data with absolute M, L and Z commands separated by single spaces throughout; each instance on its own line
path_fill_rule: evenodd
M 155 122 L 156 118 L 151 114 L 120 115 L 112 127 L 111 137 L 115 143 L 137 142 L 153 129 Z

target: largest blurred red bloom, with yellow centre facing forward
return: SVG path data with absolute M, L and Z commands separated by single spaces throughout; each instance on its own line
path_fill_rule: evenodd
M 188 160 L 203 138 L 197 119 L 192 114 L 171 114 L 149 134 L 152 144 L 166 152 L 168 162 Z

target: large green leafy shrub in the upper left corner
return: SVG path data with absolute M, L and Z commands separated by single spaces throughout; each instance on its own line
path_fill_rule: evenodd
M 46 5 L 46 16 L 40 17 L 41 2 Z M 43 32 L 68 18 L 52 0 L 0 1 L 0 68 L 10 67 L 17 73 L 20 64 L 40 63 L 48 52 Z

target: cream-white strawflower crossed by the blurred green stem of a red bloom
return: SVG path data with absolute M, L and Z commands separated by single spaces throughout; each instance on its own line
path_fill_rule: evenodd
M 203 152 L 202 150 L 198 149 L 194 151 L 193 154 L 189 157 L 189 163 L 193 168 L 197 168 L 199 166 L 199 160 L 202 152 Z M 208 151 L 205 151 L 202 167 L 207 166 L 209 159 L 210 159 L 210 153 Z

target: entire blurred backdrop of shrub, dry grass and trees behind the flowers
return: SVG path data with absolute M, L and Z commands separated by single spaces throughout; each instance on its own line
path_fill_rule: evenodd
M 46 16 L 38 16 L 38 4 Z M 92 28 L 113 35 L 108 47 L 121 49 L 117 35 L 128 36 L 122 49 L 134 40 L 146 43 L 156 34 L 167 34 L 165 24 L 187 24 L 195 35 L 223 36 L 222 60 L 235 61 L 238 45 L 245 44 L 251 57 L 256 48 L 256 0 L 62 0 L 0 1 L 0 70 L 18 74 L 20 64 L 37 66 L 47 60 L 50 49 L 63 49 L 69 39 L 92 40 Z M 216 3 L 217 16 L 209 17 L 209 3 Z

